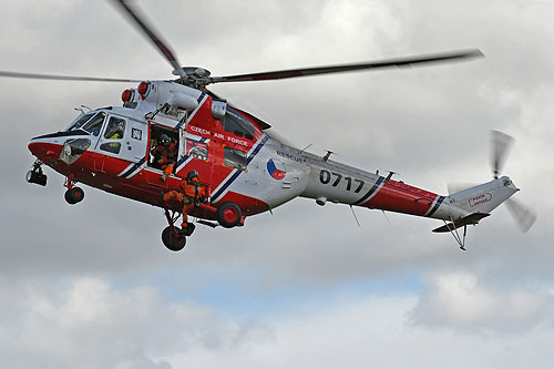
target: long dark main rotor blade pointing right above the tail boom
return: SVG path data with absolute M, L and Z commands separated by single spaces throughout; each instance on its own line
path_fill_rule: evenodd
M 379 69 L 379 68 L 393 68 L 393 66 L 410 68 L 410 66 L 414 66 L 418 64 L 448 62 L 448 61 L 465 60 L 465 59 L 481 58 L 481 57 L 484 57 L 483 53 L 478 49 L 473 49 L 473 50 L 465 50 L 465 51 L 452 51 L 452 52 L 444 52 L 444 53 L 437 53 L 437 54 L 416 55 L 416 57 L 399 58 L 399 59 L 388 59 L 388 60 L 358 63 L 358 64 L 341 64 L 341 65 L 329 65 L 329 66 L 301 68 L 301 69 L 289 69 L 289 70 L 284 70 L 284 71 L 214 76 L 214 78 L 212 78 L 212 83 L 283 80 L 283 79 L 297 78 L 297 76 L 328 74 L 328 73 L 342 73 L 342 72 L 352 72 L 352 71 L 359 71 L 359 70 Z

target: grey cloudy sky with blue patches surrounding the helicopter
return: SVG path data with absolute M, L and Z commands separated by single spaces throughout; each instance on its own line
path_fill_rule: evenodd
M 1 0 L 0 70 L 165 79 L 171 66 L 107 1 Z M 24 182 L 30 137 L 126 84 L 3 79 L 0 362 L 20 368 L 550 368 L 554 359 L 554 4 L 551 1 L 153 1 L 186 65 L 216 75 L 479 48 L 431 68 L 215 85 L 310 151 L 438 193 L 485 182 L 489 130 L 538 214 L 501 207 L 469 252 L 440 225 L 297 199 L 167 252 L 160 209 L 63 178 Z

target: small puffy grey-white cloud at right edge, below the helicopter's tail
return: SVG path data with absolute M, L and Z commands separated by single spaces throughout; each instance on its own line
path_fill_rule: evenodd
M 494 286 L 466 271 L 434 274 L 425 279 L 427 289 L 411 312 L 416 325 L 521 334 L 554 322 L 554 295 L 546 287 Z

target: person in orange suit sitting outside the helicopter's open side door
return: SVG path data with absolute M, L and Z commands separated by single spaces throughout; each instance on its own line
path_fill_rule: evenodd
M 165 205 L 170 201 L 178 201 L 183 205 L 183 222 L 181 228 L 189 236 L 195 226 L 188 223 L 188 213 L 191 213 L 194 207 L 201 205 L 201 202 L 207 197 L 206 187 L 198 180 L 198 172 L 191 171 L 186 175 L 185 181 L 179 185 L 179 188 L 172 189 L 166 193 L 161 193 L 162 204 Z

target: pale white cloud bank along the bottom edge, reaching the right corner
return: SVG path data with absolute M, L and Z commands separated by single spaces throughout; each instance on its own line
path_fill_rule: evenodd
M 171 358 L 175 366 L 240 367 L 449 367 L 547 368 L 552 328 L 510 337 L 475 337 L 413 327 L 412 295 L 342 296 L 325 305 L 296 307 L 271 319 L 273 340 L 245 342 L 212 355 L 204 349 Z

